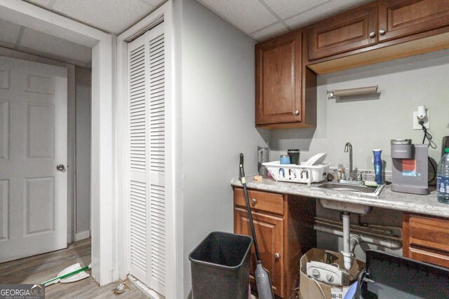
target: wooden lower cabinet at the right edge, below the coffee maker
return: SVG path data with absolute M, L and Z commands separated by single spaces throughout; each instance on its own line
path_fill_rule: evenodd
M 449 219 L 404 213 L 403 256 L 449 268 Z

